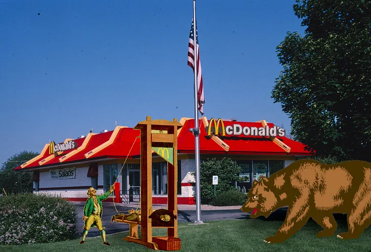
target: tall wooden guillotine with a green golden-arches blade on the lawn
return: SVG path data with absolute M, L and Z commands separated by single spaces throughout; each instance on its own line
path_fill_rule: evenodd
M 177 221 L 177 131 L 181 127 L 176 119 L 173 122 L 152 121 L 149 116 L 134 127 L 140 129 L 141 221 L 130 223 L 130 235 L 124 238 L 126 241 L 156 250 L 180 250 Z M 152 150 L 168 161 L 168 209 L 152 211 Z M 141 226 L 141 238 L 137 236 L 138 225 Z M 152 236 L 152 228 L 167 228 L 167 236 Z

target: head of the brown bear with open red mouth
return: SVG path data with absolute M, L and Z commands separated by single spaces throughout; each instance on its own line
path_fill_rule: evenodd
M 268 217 L 276 210 L 278 199 L 268 185 L 268 179 L 263 177 L 261 181 L 254 180 L 253 186 L 248 193 L 248 200 L 240 208 L 242 212 L 251 212 L 250 218 L 258 216 Z

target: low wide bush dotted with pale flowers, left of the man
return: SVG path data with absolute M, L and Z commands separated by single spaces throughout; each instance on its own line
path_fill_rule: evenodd
M 48 194 L 0 198 L 0 244 L 32 244 L 77 238 L 75 204 Z

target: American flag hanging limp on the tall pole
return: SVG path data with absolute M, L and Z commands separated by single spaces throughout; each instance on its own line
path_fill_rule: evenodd
M 194 70 L 194 35 L 193 35 L 193 26 L 194 22 L 192 19 L 192 27 L 190 33 L 190 39 L 188 42 L 188 65 L 192 67 Z M 202 71 L 201 71 L 201 63 L 200 63 L 200 48 L 198 44 L 198 32 L 197 32 L 197 24 L 196 24 L 196 48 L 197 48 L 197 99 L 198 99 L 198 110 L 200 110 L 201 115 L 203 115 L 203 104 L 205 103 L 205 97 L 203 94 L 203 85 L 202 85 Z

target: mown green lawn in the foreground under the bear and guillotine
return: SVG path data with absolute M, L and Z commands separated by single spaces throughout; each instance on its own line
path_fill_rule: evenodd
M 346 222 L 338 221 L 338 228 L 333 237 L 316 238 L 321 228 L 310 220 L 294 236 L 280 244 L 266 244 L 264 238 L 275 234 L 282 221 L 262 219 L 223 220 L 205 222 L 209 225 L 189 225 L 179 223 L 178 233 L 181 251 L 336 251 L 368 252 L 371 250 L 371 227 L 367 228 L 359 239 L 340 240 L 337 233 L 346 232 Z M 127 225 L 127 224 L 122 224 Z M 153 229 L 154 235 L 165 235 L 164 229 Z M 128 232 L 107 235 L 111 246 L 103 245 L 101 237 L 55 242 L 48 244 L 0 246 L 0 251 L 153 251 L 145 246 L 122 240 Z

